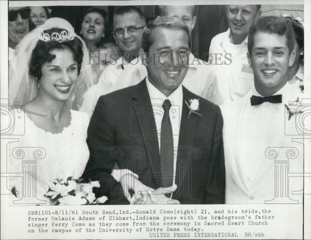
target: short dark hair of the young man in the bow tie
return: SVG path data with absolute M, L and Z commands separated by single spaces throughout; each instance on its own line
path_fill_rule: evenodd
M 254 36 L 258 32 L 278 34 L 280 36 L 283 36 L 285 34 L 286 45 L 289 49 L 289 54 L 293 51 L 295 39 L 294 29 L 290 21 L 285 17 L 263 16 L 252 24 L 248 32 L 247 47 L 249 55 L 252 55 Z

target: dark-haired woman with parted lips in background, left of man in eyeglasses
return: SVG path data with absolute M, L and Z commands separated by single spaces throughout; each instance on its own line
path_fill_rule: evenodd
M 91 7 L 83 16 L 80 34 L 83 37 L 86 47 L 94 50 L 95 44 L 105 36 L 107 26 L 107 13 L 105 10 Z

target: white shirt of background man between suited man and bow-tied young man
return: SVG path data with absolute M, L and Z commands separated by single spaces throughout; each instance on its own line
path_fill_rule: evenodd
M 230 43 L 230 29 L 211 40 L 209 53 L 224 103 L 243 97 L 253 87 L 253 70 L 246 55 L 247 42 L 246 37 L 240 44 Z

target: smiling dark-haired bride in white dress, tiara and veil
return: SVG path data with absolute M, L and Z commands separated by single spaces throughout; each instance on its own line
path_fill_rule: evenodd
M 13 189 L 17 197 L 13 204 L 50 205 L 50 198 L 44 196 L 49 190 L 49 181 L 78 179 L 85 169 L 89 158 L 86 144 L 89 117 L 84 112 L 69 110 L 74 99 L 79 98 L 76 85 L 82 80 L 84 85 L 90 84 L 86 83 L 87 78 L 78 77 L 88 68 L 85 51 L 83 40 L 74 33 L 70 23 L 61 18 L 48 19 L 16 47 L 16 61 L 9 69 L 9 98 L 10 102 L 24 104 L 24 110 L 21 107 L 13 111 L 15 115 L 23 111 L 24 121 L 16 121 L 15 128 L 25 127 L 25 134 L 10 143 L 9 168 L 11 173 L 23 173 L 32 185 L 26 186 L 17 177 L 10 178 L 9 189 Z M 36 161 L 35 171 L 22 169 L 21 151 L 23 156 L 35 157 L 34 150 L 38 148 L 42 156 Z M 139 191 L 146 192 L 146 186 L 137 179 L 122 181 L 122 176 L 128 174 L 127 170 L 113 170 L 112 176 L 121 179 L 129 201 L 128 189 L 135 191 L 136 198 L 146 199 L 146 195 L 139 194 Z M 29 197 L 29 187 L 33 188 L 32 197 Z M 147 192 L 151 194 L 151 190 Z

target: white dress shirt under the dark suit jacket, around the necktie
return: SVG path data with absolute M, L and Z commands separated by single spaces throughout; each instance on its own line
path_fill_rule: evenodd
M 166 97 L 163 93 L 161 93 L 155 86 L 153 86 L 148 77 L 146 79 L 147 89 L 149 92 L 151 105 L 153 108 L 153 115 L 156 122 L 156 129 L 158 133 L 158 142 L 160 149 L 160 139 L 161 139 L 161 123 L 164 114 L 164 109 L 162 107 L 165 99 L 169 99 L 171 102 L 171 107 L 169 109 L 169 119 L 172 125 L 172 134 L 173 134 L 173 147 L 174 150 L 178 149 L 178 141 L 179 141 L 179 129 L 180 129 L 180 120 L 182 114 L 182 106 L 183 106 L 183 88 L 180 84 L 179 87 L 168 97 Z M 160 154 L 160 152 L 159 152 Z M 176 175 L 176 161 L 177 154 L 174 154 L 174 177 Z M 173 181 L 172 185 L 175 183 Z

